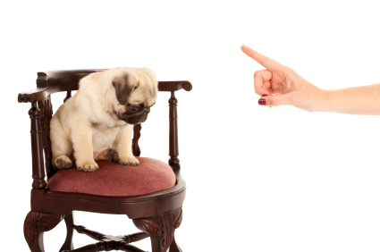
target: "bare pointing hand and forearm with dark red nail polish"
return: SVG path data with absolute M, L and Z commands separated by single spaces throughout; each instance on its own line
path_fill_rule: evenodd
M 254 73 L 260 105 L 293 105 L 308 112 L 380 115 L 380 83 L 324 90 L 248 46 L 241 46 L 241 51 L 266 68 Z

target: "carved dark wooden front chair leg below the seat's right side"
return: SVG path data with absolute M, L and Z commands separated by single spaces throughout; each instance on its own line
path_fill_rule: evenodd
M 173 242 L 175 244 L 174 231 L 182 223 L 182 208 L 149 218 L 134 219 L 133 223 L 140 231 L 150 235 L 152 252 L 165 252 Z M 179 248 L 175 250 L 174 246 L 172 249 L 173 252 L 181 252 Z

